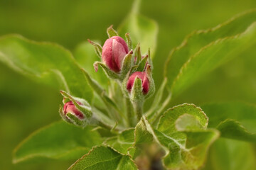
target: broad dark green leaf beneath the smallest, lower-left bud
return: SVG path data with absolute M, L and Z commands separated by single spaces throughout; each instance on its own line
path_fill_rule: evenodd
M 97 131 L 76 128 L 63 121 L 33 132 L 14 150 L 14 163 L 41 159 L 78 159 L 102 143 Z

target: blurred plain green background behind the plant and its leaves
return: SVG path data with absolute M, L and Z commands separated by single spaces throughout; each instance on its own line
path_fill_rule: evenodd
M 0 35 L 18 33 L 32 40 L 57 42 L 73 51 L 87 38 L 104 42 L 106 28 L 112 24 L 117 28 L 131 10 L 132 2 L 0 0 Z M 163 64 L 171 48 L 179 45 L 188 33 L 217 26 L 237 13 L 255 7 L 255 0 L 142 1 L 140 13 L 159 24 L 154 57 L 156 87 L 163 78 Z M 255 65 L 255 57 L 238 57 L 207 74 L 170 105 L 187 102 L 200 106 L 211 101 L 230 100 L 256 103 Z M 24 137 L 43 125 L 60 120 L 58 106 L 61 100 L 58 90 L 37 84 L 0 63 L 0 169 L 67 169 L 72 164 L 56 161 L 11 163 L 12 151 Z M 233 142 L 233 145 L 256 151 L 255 146 L 245 142 Z M 232 150 L 228 142 L 223 148 L 232 151 L 227 157 L 239 152 Z M 237 162 L 227 160 L 226 169 L 240 169 L 238 164 L 246 164 L 247 169 L 251 169 L 252 164 L 255 165 L 255 152 L 240 153 L 251 154 L 252 161 L 248 163 L 240 155 L 240 159 L 236 157 Z M 210 169 L 210 165 L 206 169 Z

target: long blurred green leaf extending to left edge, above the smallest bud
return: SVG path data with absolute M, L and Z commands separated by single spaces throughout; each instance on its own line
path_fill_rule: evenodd
M 92 91 L 80 67 L 59 45 L 6 35 L 0 38 L 0 61 L 31 79 L 91 101 Z

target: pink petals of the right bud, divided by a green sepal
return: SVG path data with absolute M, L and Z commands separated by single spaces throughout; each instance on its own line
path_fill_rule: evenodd
M 132 91 L 136 77 L 142 79 L 142 91 L 144 94 L 147 94 L 149 92 L 149 79 L 146 77 L 146 72 L 134 72 L 127 81 L 127 90 Z

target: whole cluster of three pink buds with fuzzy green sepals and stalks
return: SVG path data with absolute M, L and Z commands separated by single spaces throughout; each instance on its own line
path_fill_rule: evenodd
M 102 67 L 107 77 L 118 81 L 121 85 L 124 96 L 130 99 L 134 106 L 134 111 L 137 113 L 137 120 L 142 117 L 142 106 L 144 100 L 154 94 L 154 80 L 152 78 L 151 70 L 153 65 L 150 58 L 150 51 L 146 55 L 142 55 L 140 46 L 137 45 L 132 50 L 132 40 L 127 33 L 125 35 L 127 41 L 119 37 L 117 31 L 112 26 L 107 29 L 109 38 L 105 41 L 103 47 L 89 40 L 95 46 L 95 52 L 100 57 L 100 62 L 95 62 L 94 67 L 97 72 L 98 66 Z M 105 95 L 104 89 L 97 84 L 97 81 L 90 78 L 90 75 L 83 70 L 87 83 L 90 84 L 96 94 L 102 98 L 106 104 L 110 104 L 112 109 L 111 113 L 120 113 L 115 103 Z M 101 120 L 102 115 L 93 108 L 94 114 L 92 115 L 92 108 L 89 103 L 82 98 L 76 98 L 60 91 L 63 95 L 63 105 L 60 106 L 60 115 L 68 123 L 78 125 L 84 128 L 88 123 L 95 125 L 106 125 Z M 100 114 L 100 116 L 99 116 Z M 118 115 L 118 114 L 117 114 Z M 130 121 L 132 125 L 132 120 Z

